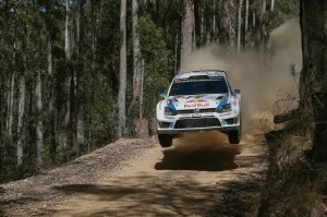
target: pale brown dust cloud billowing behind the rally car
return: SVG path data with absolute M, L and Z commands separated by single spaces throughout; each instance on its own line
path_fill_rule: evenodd
M 258 51 L 243 51 L 240 56 L 226 53 L 225 48 L 210 45 L 192 52 L 181 67 L 181 71 L 226 71 L 232 87 L 242 93 L 243 129 L 261 113 L 272 119 L 272 114 L 298 104 L 299 82 L 291 75 L 290 67 L 293 64 L 295 72 L 302 69 L 299 20 L 284 22 L 269 36 L 265 58 Z

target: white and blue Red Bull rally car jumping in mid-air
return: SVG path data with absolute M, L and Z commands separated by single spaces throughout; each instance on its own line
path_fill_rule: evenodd
M 158 138 L 169 147 L 183 132 L 218 130 L 231 144 L 241 140 L 241 92 L 232 89 L 223 71 L 179 73 L 157 104 Z

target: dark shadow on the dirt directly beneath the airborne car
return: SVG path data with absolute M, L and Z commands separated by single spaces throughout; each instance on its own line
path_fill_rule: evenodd
M 239 145 L 231 145 L 227 136 L 217 132 L 189 133 L 178 138 L 156 170 L 222 171 L 237 169 L 234 157 L 241 154 Z

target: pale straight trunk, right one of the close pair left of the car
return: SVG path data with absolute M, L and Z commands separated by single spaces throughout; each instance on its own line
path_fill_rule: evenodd
M 160 1 L 159 1 L 160 2 Z M 132 35 L 133 35 L 133 103 L 140 101 L 141 95 L 141 53 L 140 53 L 140 39 L 136 34 L 138 22 L 138 0 L 132 1 Z

